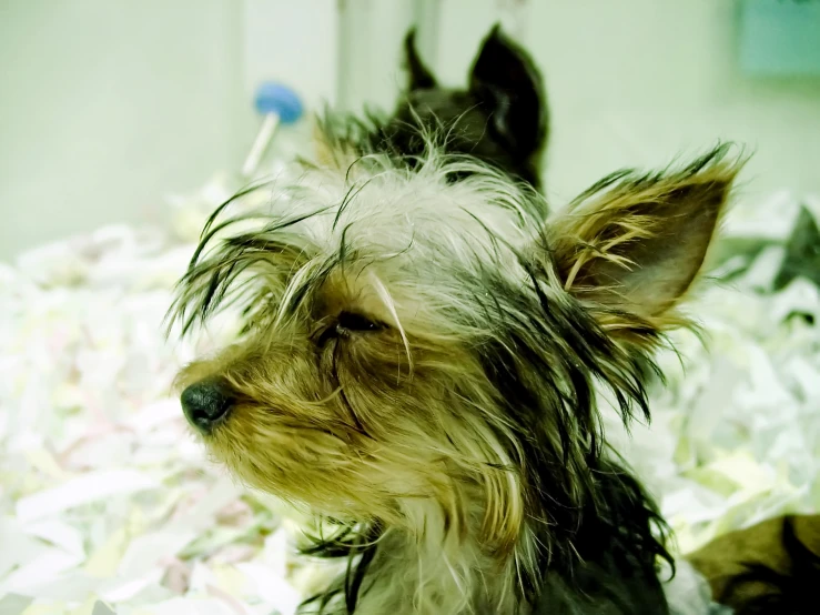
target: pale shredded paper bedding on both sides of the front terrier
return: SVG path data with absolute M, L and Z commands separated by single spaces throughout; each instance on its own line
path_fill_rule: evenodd
M 224 342 L 166 341 L 163 316 L 227 195 L 215 181 L 164 231 L 105 228 L 0 265 L 0 614 L 284 615 L 326 576 L 298 563 L 274 503 L 205 460 L 171 391 Z M 661 355 L 650 429 L 613 425 L 682 553 L 820 510 L 818 209 L 736 209 L 691 308 L 703 341 Z

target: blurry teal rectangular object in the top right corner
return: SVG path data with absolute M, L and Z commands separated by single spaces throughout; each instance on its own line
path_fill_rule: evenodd
M 742 0 L 740 68 L 756 77 L 820 77 L 820 0 Z

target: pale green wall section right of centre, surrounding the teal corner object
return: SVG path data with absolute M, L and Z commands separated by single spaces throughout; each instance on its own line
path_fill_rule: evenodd
M 493 20 L 518 30 L 547 82 L 556 203 L 617 168 L 662 165 L 718 139 L 756 150 L 748 199 L 780 189 L 820 194 L 820 79 L 742 77 L 732 0 L 530 0 L 506 12 L 499 4 L 522 6 L 443 2 L 439 28 L 453 36 L 442 37 L 437 63 L 460 81 Z

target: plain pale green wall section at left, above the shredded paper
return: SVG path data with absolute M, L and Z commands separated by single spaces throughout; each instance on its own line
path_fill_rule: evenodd
M 236 4 L 0 2 L 0 258 L 154 221 L 241 152 Z

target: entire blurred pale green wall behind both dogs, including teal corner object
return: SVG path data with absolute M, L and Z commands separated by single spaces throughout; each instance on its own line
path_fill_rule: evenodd
M 750 198 L 818 193 L 818 10 L 814 0 L 4 0 L 0 259 L 101 223 L 156 222 L 166 194 L 239 168 L 263 79 L 302 97 L 302 124 L 325 102 L 391 109 L 413 23 L 424 59 L 453 85 L 494 22 L 530 50 L 553 114 L 545 164 L 557 204 L 617 168 L 662 165 L 717 139 L 756 150 Z

